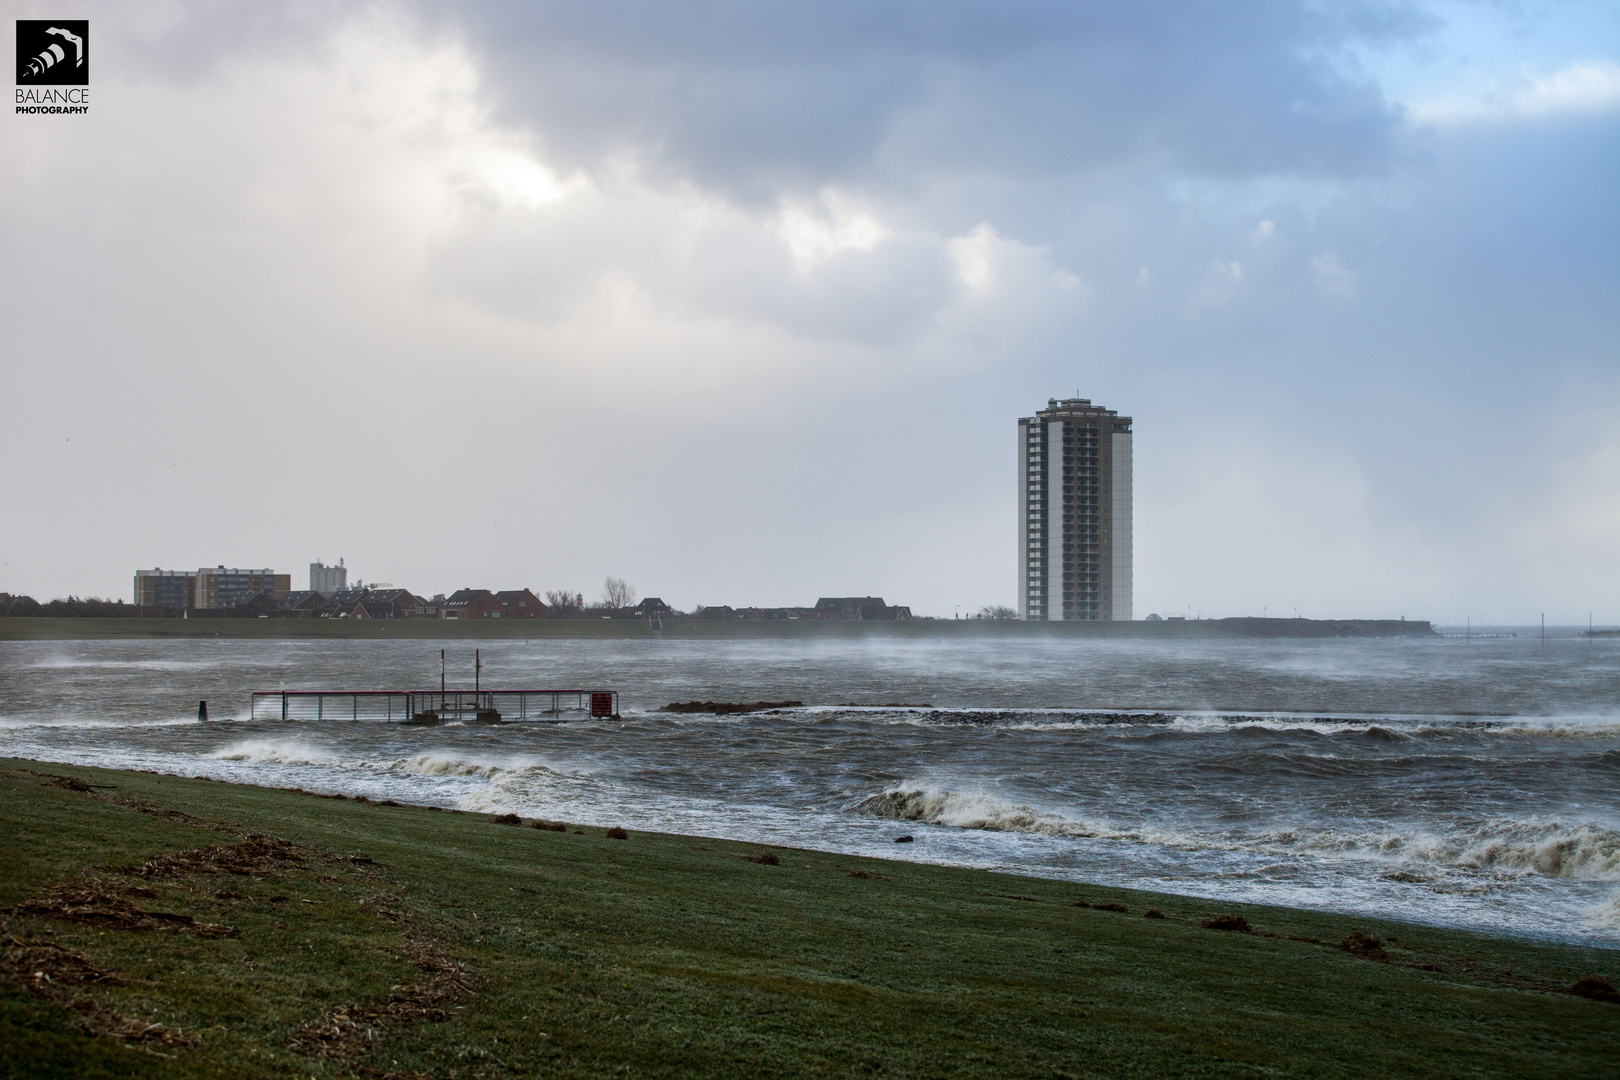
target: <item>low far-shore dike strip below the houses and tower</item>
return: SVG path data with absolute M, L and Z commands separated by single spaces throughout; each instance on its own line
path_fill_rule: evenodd
M 747 619 L 667 619 L 653 628 L 642 619 L 70 619 L 3 617 L 0 641 L 73 641 L 139 638 L 258 640 L 671 640 L 671 641 L 847 641 L 847 640 L 1439 640 L 1422 620 L 1395 619 L 1194 619 L 1162 622 L 1019 622 L 915 619 L 909 622 L 818 622 Z

